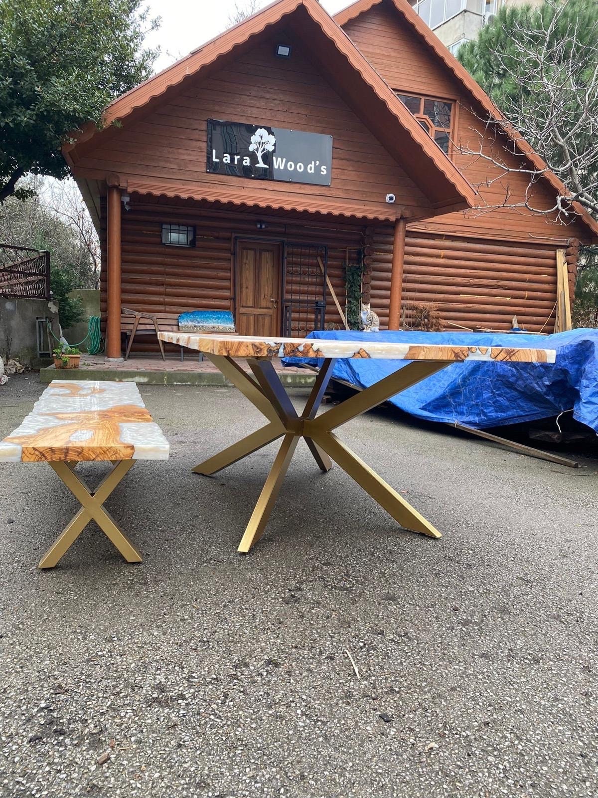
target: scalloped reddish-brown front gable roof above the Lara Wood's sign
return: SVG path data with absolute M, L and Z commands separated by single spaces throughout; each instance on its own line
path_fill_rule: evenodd
M 434 209 L 431 215 L 474 204 L 476 192 L 458 168 L 317 0 L 273 2 L 113 101 L 105 110 L 105 124 L 118 120 L 126 126 L 129 118 L 139 117 L 156 103 L 166 101 L 169 93 L 179 91 L 184 81 L 209 73 L 221 60 L 234 58 L 235 53 L 252 46 L 267 28 L 287 22 L 293 34 L 309 42 L 310 57 L 330 76 L 331 85 L 427 196 Z M 115 128 L 110 130 L 112 134 L 108 135 L 117 135 Z M 96 137 L 101 140 L 105 135 L 105 127 L 104 130 L 89 127 L 78 139 L 73 136 L 74 143 L 63 147 L 69 164 L 73 165 L 77 142 L 85 142 L 85 151 L 89 151 L 95 146 L 93 140 Z

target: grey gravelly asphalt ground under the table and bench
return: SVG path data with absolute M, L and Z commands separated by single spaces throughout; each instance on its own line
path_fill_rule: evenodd
M 42 388 L 0 391 L 0 437 Z M 0 796 L 596 798 L 598 460 L 370 413 L 342 437 L 443 539 L 300 444 L 242 556 L 273 448 L 190 468 L 257 411 L 234 389 L 141 392 L 171 459 L 108 507 L 143 564 L 90 525 L 37 571 L 77 504 L 45 466 L 0 466 Z

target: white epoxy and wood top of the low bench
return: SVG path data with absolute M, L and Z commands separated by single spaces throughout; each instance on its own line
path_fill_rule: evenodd
M 53 380 L 0 462 L 167 460 L 169 448 L 134 382 Z

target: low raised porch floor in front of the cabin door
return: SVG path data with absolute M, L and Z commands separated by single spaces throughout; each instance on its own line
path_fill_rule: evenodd
M 248 369 L 245 361 L 240 365 Z M 281 361 L 273 361 L 284 385 L 301 387 L 313 385 L 315 374 L 308 369 L 283 368 Z M 104 355 L 81 354 L 78 369 L 57 369 L 50 365 L 40 370 L 40 381 L 64 380 L 116 380 L 139 382 L 144 385 L 229 385 L 207 358 L 199 361 L 197 354 L 186 351 L 184 361 L 179 355 L 167 355 L 162 360 L 157 354 L 132 354 L 126 361 L 108 361 Z

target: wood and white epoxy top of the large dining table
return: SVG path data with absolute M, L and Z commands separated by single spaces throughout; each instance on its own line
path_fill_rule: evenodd
M 202 335 L 161 332 L 167 343 L 187 346 L 204 354 L 229 358 L 378 358 L 380 360 L 466 360 L 553 363 L 556 352 L 513 346 L 439 346 L 422 343 L 334 340 L 332 338 L 262 338 L 254 335 Z

